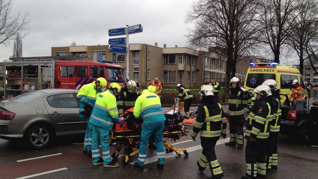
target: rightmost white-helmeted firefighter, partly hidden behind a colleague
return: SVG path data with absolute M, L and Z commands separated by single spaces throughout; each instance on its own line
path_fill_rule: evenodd
M 273 97 L 272 104 L 273 107 L 275 107 L 273 111 L 273 120 L 270 123 L 269 137 L 266 143 L 266 169 L 270 170 L 271 168 L 277 169 L 278 164 L 277 137 L 280 130 L 281 104 L 276 81 L 266 80 L 263 84 L 271 88 Z

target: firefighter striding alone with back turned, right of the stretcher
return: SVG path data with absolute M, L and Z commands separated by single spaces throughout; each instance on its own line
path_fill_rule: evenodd
M 199 171 L 204 171 L 209 164 L 212 178 L 222 178 L 223 172 L 215 155 L 214 147 L 218 139 L 226 138 L 225 114 L 220 104 L 215 102 L 213 88 L 210 85 L 204 86 L 200 90 L 202 98 L 201 105 L 198 107 L 197 119 L 194 122 L 191 132 L 192 140 L 195 141 L 200 132 L 201 146 L 203 148 L 200 159 L 197 161 Z

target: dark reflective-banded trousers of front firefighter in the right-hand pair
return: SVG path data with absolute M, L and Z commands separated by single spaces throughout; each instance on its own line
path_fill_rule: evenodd
M 266 175 L 266 139 L 252 142 L 248 136 L 245 147 L 246 174 L 256 177 Z

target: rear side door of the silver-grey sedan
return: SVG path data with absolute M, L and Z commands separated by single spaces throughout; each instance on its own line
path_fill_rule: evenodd
M 59 133 L 74 134 L 85 132 L 86 120 L 79 117 L 79 103 L 74 92 L 45 96 L 44 103 Z

